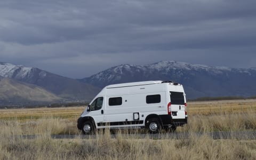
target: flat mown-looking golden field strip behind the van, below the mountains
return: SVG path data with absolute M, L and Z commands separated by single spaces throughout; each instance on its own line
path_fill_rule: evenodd
M 61 119 L 77 119 L 86 107 L 59 107 L 59 108 L 21 108 L 0 109 L 0 119 L 15 119 L 30 121 L 42 117 L 55 117 Z M 243 113 L 247 110 L 256 111 L 256 99 L 221 100 L 221 101 L 193 101 L 188 102 L 188 114 L 212 115 L 227 113 Z

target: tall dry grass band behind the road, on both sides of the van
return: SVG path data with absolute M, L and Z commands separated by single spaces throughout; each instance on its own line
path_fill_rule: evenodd
M 63 119 L 53 116 L 43 116 L 30 121 L 17 119 L 0 120 L 0 124 L 20 127 L 19 134 L 41 134 L 50 131 L 50 134 L 80 134 L 77 129 L 77 119 Z M 0 125 L 0 128 L 1 125 Z M 3 128 L 5 126 L 3 125 Z M 256 113 L 247 110 L 243 113 L 222 113 L 212 115 L 194 115 L 188 117 L 188 124 L 177 127 L 177 132 L 213 132 L 213 131 L 241 131 L 256 130 Z M 8 130 L 7 130 L 8 131 Z M 12 131 L 12 130 L 11 130 Z

